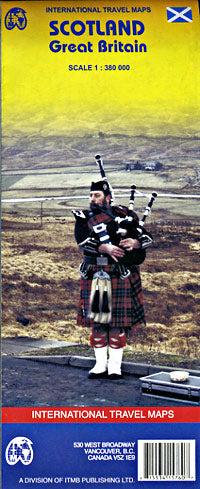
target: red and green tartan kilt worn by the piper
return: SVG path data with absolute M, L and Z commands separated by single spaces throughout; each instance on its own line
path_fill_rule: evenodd
M 99 270 L 96 265 L 92 265 L 93 272 Z M 105 272 L 112 272 L 113 266 L 103 267 Z M 134 271 L 125 279 L 111 274 L 112 282 L 112 321 L 110 327 L 136 328 L 141 324 L 146 324 L 143 308 L 143 294 L 139 269 Z M 90 292 L 92 279 L 81 278 L 80 297 L 78 304 L 77 324 L 83 327 L 93 327 L 100 325 L 90 319 Z

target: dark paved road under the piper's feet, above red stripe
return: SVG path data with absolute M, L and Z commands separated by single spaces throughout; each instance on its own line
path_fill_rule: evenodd
M 2 357 L 2 403 L 10 407 L 184 406 L 146 397 L 139 378 L 89 380 L 87 370 L 34 360 Z M 187 404 L 186 404 L 187 405 Z

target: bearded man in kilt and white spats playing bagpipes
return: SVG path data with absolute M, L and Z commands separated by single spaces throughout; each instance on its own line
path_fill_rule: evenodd
M 127 333 L 146 323 L 139 265 L 152 237 L 133 210 L 111 206 L 111 198 L 106 179 L 92 182 L 90 209 L 73 211 L 83 251 L 77 322 L 91 328 L 96 358 L 89 379 L 120 379 Z

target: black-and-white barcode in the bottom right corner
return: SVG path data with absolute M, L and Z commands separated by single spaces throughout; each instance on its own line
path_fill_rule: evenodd
M 196 480 L 195 440 L 138 440 L 138 481 Z

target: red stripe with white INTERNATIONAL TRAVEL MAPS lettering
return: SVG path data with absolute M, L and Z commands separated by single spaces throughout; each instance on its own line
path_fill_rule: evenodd
M 2 408 L 3 423 L 199 423 L 200 407 Z

